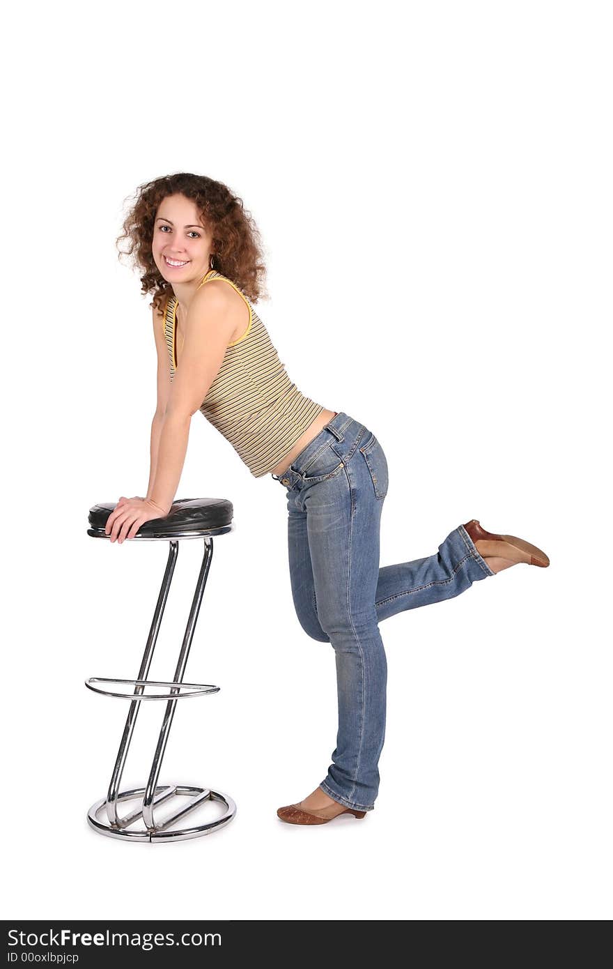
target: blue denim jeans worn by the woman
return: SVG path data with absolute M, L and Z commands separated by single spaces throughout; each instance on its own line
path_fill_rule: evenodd
M 343 412 L 281 477 L 287 487 L 291 593 L 300 625 L 334 648 L 338 735 L 320 787 L 372 811 L 385 735 L 387 661 L 379 623 L 452 599 L 495 573 L 458 525 L 427 558 L 379 567 L 387 461 L 375 435 Z

